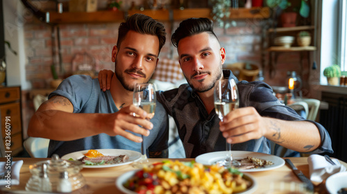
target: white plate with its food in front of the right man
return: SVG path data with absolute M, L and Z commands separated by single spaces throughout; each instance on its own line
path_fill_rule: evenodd
M 210 152 L 199 155 L 195 161 L 203 165 L 217 164 L 218 161 L 226 159 L 227 151 Z M 275 155 L 266 155 L 260 152 L 231 151 L 232 159 L 239 161 L 236 167 L 241 172 L 257 172 L 273 170 L 285 165 L 285 160 Z

